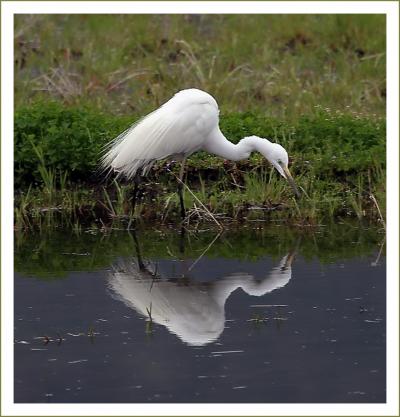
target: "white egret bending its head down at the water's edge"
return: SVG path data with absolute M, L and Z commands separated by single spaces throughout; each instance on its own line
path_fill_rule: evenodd
M 288 169 L 286 150 L 258 136 L 245 137 L 237 144 L 230 142 L 219 128 L 217 102 L 210 94 L 195 88 L 179 91 L 114 139 L 103 156 L 102 165 L 129 179 L 145 175 L 158 160 L 181 160 L 179 197 L 184 217 L 185 159 L 200 150 L 232 161 L 247 159 L 253 151 L 260 152 L 289 182 L 295 195 L 300 195 Z

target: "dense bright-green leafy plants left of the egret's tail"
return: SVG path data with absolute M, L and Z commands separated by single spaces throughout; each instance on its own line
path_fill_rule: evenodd
M 69 179 L 93 175 L 102 146 L 130 122 L 90 111 L 41 101 L 17 108 L 14 115 L 15 182 L 17 186 L 46 182 L 49 172 Z

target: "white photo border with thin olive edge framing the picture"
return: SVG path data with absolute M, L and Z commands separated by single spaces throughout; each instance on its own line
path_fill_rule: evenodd
M 386 14 L 387 402 L 385 404 L 15 404 L 13 402 L 14 14 Z M 3 1 L 1 3 L 1 415 L 399 415 L 399 3 L 397 1 Z

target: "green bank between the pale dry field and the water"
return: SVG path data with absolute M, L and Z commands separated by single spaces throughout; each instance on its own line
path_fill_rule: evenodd
M 103 146 L 135 119 L 82 107 L 40 102 L 15 114 L 16 227 L 54 219 L 80 227 L 116 221 L 169 222 L 178 217 L 179 164 L 158 163 L 144 180 L 132 210 L 133 185 L 98 172 Z M 221 117 L 233 142 L 257 134 L 281 143 L 303 197 L 261 155 L 233 163 L 197 153 L 189 158 L 185 190 L 190 222 L 283 220 L 318 224 L 356 217 L 381 222 L 385 213 L 385 121 L 320 108 L 313 116 L 282 122 L 256 113 Z M 171 172 L 170 172 L 171 171 Z

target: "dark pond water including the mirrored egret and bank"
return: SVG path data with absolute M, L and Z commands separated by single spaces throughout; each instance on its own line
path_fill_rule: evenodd
M 18 238 L 15 402 L 385 402 L 381 240 Z

